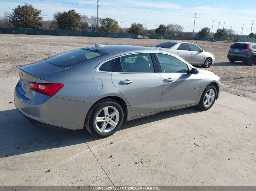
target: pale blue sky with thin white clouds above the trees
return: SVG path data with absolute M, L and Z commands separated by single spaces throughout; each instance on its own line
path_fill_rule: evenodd
M 12 12 L 17 5 L 23 5 L 25 2 L 42 10 L 44 20 L 51 20 L 52 14 L 56 11 L 68 11 L 75 9 L 81 15 L 97 16 L 96 0 L 0 0 L 0 15 L 4 12 Z M 252 2 L 252 1 L 251 1 Z M 98 17 L 111 17 L 118 21 L 120 27 L 130 27 L 132 23 L 142 23 L 151 28 L 157 28 L 159 24 L 180 24 L 185 32 L 193 32 L 194 14 L 195 32 L 202 27 L 212 28 L 213 32 L 220 27 L 232 29 L 235 33 L 241 34 L 242 24 L 244 24 L 243 33 L 248 35 L 251 32 L 251 24 L 256 20 L 255 5 L 249 9 L 250 3 L 244 1 L 215 0 L 195 1 L 142 1 L 142 0 L 99 0 Z M 255 22 L 254 22 L 255 23 Z M 256 26 L 253 25 L 252 32 L 256 32 Z

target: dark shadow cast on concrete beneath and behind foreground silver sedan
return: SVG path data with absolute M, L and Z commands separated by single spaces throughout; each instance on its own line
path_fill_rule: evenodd
M 196 107 L 166 111 L 124 122 L 119 131 L 170 117 L 197 112 L 201 112 L 201 110 Z M 38 129 L 16 109 L 0 111 L 0 119 L 0 157 L 66 147 L 99 139 L 91 135 L 86 129 L 57 132 Z

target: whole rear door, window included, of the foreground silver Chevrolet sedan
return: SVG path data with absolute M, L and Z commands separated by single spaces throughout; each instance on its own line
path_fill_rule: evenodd
M 111 79 L 128 101 L 133 115 L 161 109 L 163 82 L 153 54 L 137 53 L 117 57 Z

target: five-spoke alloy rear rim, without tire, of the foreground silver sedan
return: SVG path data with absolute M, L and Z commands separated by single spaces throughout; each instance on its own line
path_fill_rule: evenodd
M 97 114 L 95 119 L 95 126 L 100 132 L 110 132 L 118 124 L 119 112 L 115 107 L 104 107 Z

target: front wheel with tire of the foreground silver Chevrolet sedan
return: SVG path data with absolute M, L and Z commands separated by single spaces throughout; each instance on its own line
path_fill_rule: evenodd
M 206 94 L 208 94 L 208 95 L 206 95 Z M 211 97 L 213 95 L 214 95 L 214 97 Z M 208 85 L 204 89 L 204 92 L 201 95 L 201 98 L 200 98 L 200 101 L 199 101 L 197 107 L 203 111 L 210 109 L 213 106 L 213 104 L 216 100 L 216 97 L 217 97 L 217 90 L 216 90 L 215 86 L 212 84 Z

